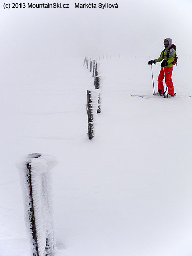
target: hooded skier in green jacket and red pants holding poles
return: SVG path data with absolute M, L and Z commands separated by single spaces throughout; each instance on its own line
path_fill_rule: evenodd
M 164 86 L 163 86 L 163 79 L 165 77 L 165 82 L 168 87 L 168 94 L 169 97 L 174 96 L 174 86 L 172 82 L 172 71 L 173 71 L 173 64 L 175 58 L 175 50 L 171 47 L 172 46 L 172 39 L 166 38 L 164 40 L 165 49 L 161 52 L 161 55 L 158 59 L 148 61 L 148 64 L 152 65 L 156 62 L 163 62 L 161 63 L 161 70 L 158 76 L 158 92 L 155 95 L 164 95 Z

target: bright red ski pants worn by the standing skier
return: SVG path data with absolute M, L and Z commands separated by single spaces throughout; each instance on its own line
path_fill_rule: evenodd
M 163 79 L 165 77 L 165 82 L 168 87 L 168 93 L 170 95 L 174 95 L 174 86 L 172 82 L 172 70 L 173 70 L 173 67 L 164 67 L 164 70 L 162 67 L 158 76 L 158 90 L 161 90 L 162 92 L 164 92 Z

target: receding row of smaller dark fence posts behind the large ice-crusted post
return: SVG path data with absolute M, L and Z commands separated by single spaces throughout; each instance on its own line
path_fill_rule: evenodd
M 88 115 L 88 137 L 91 140 L 94 137 L 94 126 L 93 126 L 93 112 L 94 106 L 96 106 L 97 114 L 101 113 L 101 99 L 100 99 L 100 76 L 98 75 L 98 64 L 95 60 L 84 58 L 84 67 L 89 69 L 92 73 L 92 77 L 94 78 L 94 87 L 97 91 L 95 97 L 95 93 L 93 91 L 87 90 L 87 115 Z M 96 99 L 97 98 L 97 99 Z M 94 101 L 97 102 L 94 102 Z

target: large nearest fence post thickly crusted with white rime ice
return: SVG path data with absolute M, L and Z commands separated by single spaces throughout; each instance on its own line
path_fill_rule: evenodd
M 40 153 L 29 154 L 17 164 L 33 256 L 54 255 L 50 170 L 56 164 L 55 157 Z

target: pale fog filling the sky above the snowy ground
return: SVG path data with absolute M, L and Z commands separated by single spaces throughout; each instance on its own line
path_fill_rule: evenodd
M 35 0 L 32 3 L 42 2 Z M 74 5 L 73 1 L 68 3 Z M 190 0 L 108 3 L 117 3 L 118 8 L 3 9 L 2 3 L 2 60 L 41 61 L 118 53 L 152 54 L 155 58 L 163 49 L 166 37 L 172 38 L 177 45 L 178 55 L 191 55 L 191 48 L 187 47 L 191 44 Z

